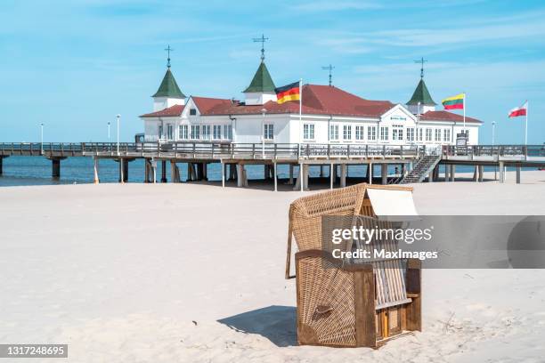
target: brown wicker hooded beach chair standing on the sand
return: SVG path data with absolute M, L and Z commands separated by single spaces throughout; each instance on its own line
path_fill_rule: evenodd
M 322 248 L 324 215 L 344 216 L 340 220 L 346 227 L 354 223 L 390 226 L 390 222 L 377 219 L 369 190 L 411 192 L 407 187 L 358 184 L 299 198 L 290 206 L 286 278 L 291 278 L 294 237 L 300 344 L 376 348 L 392 337 L 421 329 L 419 260 L 344 264 Z M 376 239 L 369 246 L 357 247 L 376 246 L 394 251 L 397 242 Z M 345 250 L 353 247 L 341 246 Z

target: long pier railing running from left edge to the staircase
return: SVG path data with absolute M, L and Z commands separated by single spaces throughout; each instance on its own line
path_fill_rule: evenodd
M 3 142 L 0 156 L 182 157 L 182 158 L 336 158 L 418 157 L 425 146 L 232 142 Z

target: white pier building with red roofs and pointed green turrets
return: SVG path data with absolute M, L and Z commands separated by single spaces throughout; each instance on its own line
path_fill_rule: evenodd
M 299 101 L 276 102 L 275 85 L 261 61 L 244 101 L 186 98 L 170 67 L 153 97 L 153 112 L 142 115 L 145 141 L 236 143 L 362 143 L 451 145 L 458 133 L 478 143 L 481 121 L 436 110 L 421 77 L 405 105 L 371 101 L 331 85 L 303 85 Z

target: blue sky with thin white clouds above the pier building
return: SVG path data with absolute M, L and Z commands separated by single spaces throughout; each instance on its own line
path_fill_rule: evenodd
M 484 121 L 480 143 L 545 141 L 545 3 L 542 1 L 3 0 L 0 141 L 121 141 L 142 133 L 165 73 L 186 95 L 243 99 L 265 62 L 277 86 L 303 78 L 370 100 L 409 101 L 425 80 L 435 100 L 467 93 Z M 442 109 L 439 106 L 439 109 Z

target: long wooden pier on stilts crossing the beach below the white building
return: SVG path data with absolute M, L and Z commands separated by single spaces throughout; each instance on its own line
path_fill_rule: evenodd
M 289 183 L 294 190 L 308 190 L 309 168 L 318 165 L 329 169 L 329 187 L 336 181 L 346 186 L 347 166 L 366 165 L 365 181 L 373 182 L 373 166 L 379 166 L 379 181 L 408 183 L 440 180 L 455 181 L 457 165 L 474 166 L 474 181 L 483 181 L 484 166 L 499 168 L 500 182 L 505 181 L 506 167 L 515 167 L 517 182 L 521 168 L 545 167 L 543 145 L 474 145 L 429 148 L 425 145 L 372 144 L 281 144 L 232 142 L 67 142 L 67 143 L 0 143 L 0 175 L 3 159 L 11 156 L 45 157 L 52 162 L 52 177 L 61 177 L 61 162 L 67 157 L 92 157 L 94 182 L 100 182 L 100 160 L 113 159 L 119 164 L 119 182 L 128 180 L 130 162 L 144 159 L 144 182 L 167 182 L 170 167 L 172 182 L 181 182 L 179 164 L 187 166 L 187 181 L 207 181 L 207 165 L 219 163 L 222 185 L 236 181 L 248 186 L 246 165 L 264 165 L 264 180 L 273 180 L 278 190 L 278 165 L 289 165 Z M 160 165 L 160 175 L 158 168 Z M 400 173 L 388 175 L 388 165 L 399 166 Z M 297 167 L 297 173 L 295 173 Z

